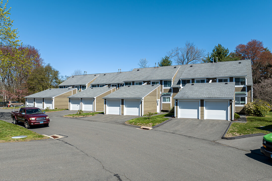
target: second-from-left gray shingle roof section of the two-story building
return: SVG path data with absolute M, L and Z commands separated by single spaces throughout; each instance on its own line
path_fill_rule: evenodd
M 105 75 L 104 75 L 105 74 Z M 100 74 L 91 84 L 117 84 L 131 76 L 131 72 L 113 72 Z

